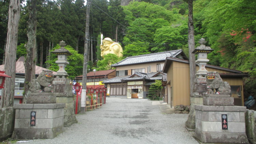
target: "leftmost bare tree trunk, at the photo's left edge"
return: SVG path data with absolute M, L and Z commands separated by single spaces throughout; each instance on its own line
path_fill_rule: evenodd
M 14 87 L 15 87 L 15 72 L 16 72 L 16 51 L 18 38 L 18 24 L 20 18 L 20 0 L 10 0 L 8 32 L 6 39 L 4 71 L 5 74 L 12 78 L 6 78 L 4 88 L 2 89 L 1 106 L 13 106 Z

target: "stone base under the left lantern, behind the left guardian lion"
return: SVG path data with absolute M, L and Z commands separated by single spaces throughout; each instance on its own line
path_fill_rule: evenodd
M 66 103 L 66 107 L 64 107 L 64 127 L 77 123 L 70 80 L 68 78 L 54 78 L 53 91 L 53 95 L 56 96 L 56 103 Z

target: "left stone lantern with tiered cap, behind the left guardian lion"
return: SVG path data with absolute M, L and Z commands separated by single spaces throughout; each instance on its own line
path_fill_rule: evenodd
M 60 41 L 59 45 L 60 45 L 60 48 L 56 49 L 52 53 L 58 56 L 58 60 L 55 61 L 59 66 L 59 70 L 57 71 L 57 74 L 56 74 L 57 77 L 65 78 L 69 76 L 68 73 L 65 71 L 65 67 L 67 66 L 67 64 L 69 64 L 68 56 L 72 54 L 66 48 L 64 48 L 66 46 L 65 41 Z

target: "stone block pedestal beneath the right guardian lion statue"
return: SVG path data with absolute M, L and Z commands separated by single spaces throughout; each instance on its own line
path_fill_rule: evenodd
M 194 137 L 199 143 L 244 143 L 248 144 L 245 133 L 244 106 L 234 105 L 230 95 L 205 95 L 203 105 L 196 105 L 196 129 Z M 223 122 L 222 115 L 227 119 Z M 222 124 L 226 124 L 227 129 Z

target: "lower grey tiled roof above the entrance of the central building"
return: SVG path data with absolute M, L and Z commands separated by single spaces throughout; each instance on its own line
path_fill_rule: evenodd
M 136 80 L 155 81 L 155 80 L 162 80 L 162 75 L 166 75 L 166 74 L 162 72 L 152 72 L 152 73 L 136 72 L 130 76 L 114 77 L 109 80 L 103 81 L 103 83 L 104 84 L 122 83 L 126 81 L 136 81 Z

